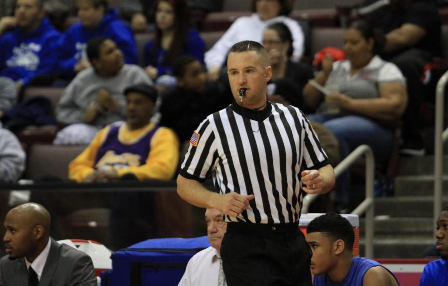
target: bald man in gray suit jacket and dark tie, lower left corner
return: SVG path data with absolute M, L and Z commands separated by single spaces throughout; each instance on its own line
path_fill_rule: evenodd
M 96 286 L 90 256 L 50 238 L 50 214 L 40 204 L 14 207 L 4 220 L 6 256 L 0 286 Z

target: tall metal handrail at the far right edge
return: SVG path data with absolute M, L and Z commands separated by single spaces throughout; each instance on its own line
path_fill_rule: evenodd
M 436 88 L 436 122 L 434 130 L 434 224 L 442 211 L 443 188 L 443 155 L 444 142 L 448 138 L 448 128 L 444 129 L 445 86 L 448 82 L 448 71 L 437 82 Z

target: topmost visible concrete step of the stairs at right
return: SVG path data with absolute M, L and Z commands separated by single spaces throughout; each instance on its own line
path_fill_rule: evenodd
M 400 157 L 399 175 L 433 175 L 434 156 Z M 448 156 L 443 159 L 444 174 L 448 174 Z

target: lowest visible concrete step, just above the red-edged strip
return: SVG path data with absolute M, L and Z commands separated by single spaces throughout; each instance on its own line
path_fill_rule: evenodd
M 423 258 L 425 250 L 436 243 L 434 236 L 395 235 L 394 237 L 375 236 L 373 242 L 374 258 Z M 359 241 L 360 256 L 365 255 L 365 240 Z

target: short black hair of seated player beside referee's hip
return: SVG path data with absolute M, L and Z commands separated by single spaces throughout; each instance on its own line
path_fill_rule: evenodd
M 342 239 L 345 249 L 350 252 L 353 248 L 353 226 L 338 213 L 326 213 L 313 219 L 307 226 L 307 233 L 312 232 L 322 232 L 333 241 Z

